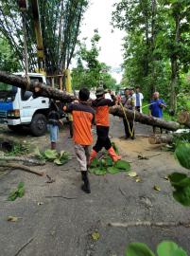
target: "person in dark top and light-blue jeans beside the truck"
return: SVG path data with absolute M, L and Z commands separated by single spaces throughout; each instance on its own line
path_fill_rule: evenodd
M 60 119 L 60 110 L 56 102 L 51 100 L 49 108 L 50 111 L 48 114 L 47 129 L 50 134 L 51 150 L 55 150 L 59 137 L 59 125 L 62 125 L 63 123 Z

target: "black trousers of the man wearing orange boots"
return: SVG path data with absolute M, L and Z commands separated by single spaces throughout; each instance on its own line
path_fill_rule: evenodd
M 109 138 L 109 127 L 96 126 L 97 141 L 94 146 L 95 152 L 99 152 L 102 148 L 109 150 L 112 147 L 111 140 Z

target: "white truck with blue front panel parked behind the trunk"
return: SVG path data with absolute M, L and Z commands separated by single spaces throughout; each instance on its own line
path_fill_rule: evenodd
M 24 73 L 15 73 L 24 77 Z M 46 83 L 39 73 L 28 73 L 30 81 Z M 0 122 L 8 124 L 10 130 L 17 131 L 29 127 L 34 136 L 43 136 L 46 131 L 49 99 L 33 98 L 32 92 L 0 82 Z

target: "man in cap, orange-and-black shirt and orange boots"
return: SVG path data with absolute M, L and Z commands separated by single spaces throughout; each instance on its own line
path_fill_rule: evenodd
M 111 155 L 112 160 L 116 162 L 121 159 L 121 156 L 116 155 L 109 138 L 109 107 L 115 104 L 116 99 L 114 98 L 113 101 L 105 99 L 105 91 L 102 87 L 96 89 L 95 95 L 96 100 L 92 102 L 92 106 L 95 108 L 97 140 L 90 156 L 90 163 L 103 147 L 108 151 L 109 155 Z

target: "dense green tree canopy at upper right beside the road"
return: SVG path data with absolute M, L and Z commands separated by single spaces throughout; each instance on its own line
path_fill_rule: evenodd
M 175 110 L 190 64 L 190 2 L 121 0 L 112 21 L 126 31 L 123 82 L 141 85 L 147 98 L 161 91 Z

